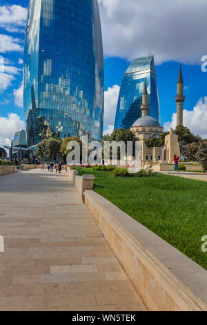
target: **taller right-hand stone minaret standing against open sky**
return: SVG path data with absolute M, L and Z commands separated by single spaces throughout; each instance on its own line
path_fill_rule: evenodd
M 184 80 L 181 71 L 181 64 L 179 69 L 179 76 L 177 80 L 177 96 L 175 97 L 177 102 L 177 127 L 184 124 Z

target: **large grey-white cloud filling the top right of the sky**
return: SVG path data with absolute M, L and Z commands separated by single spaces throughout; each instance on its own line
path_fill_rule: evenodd
M 195 63 L 206 54 L 206 0 L 99 0 L 105 55 L 153 53 L 157 64 Z

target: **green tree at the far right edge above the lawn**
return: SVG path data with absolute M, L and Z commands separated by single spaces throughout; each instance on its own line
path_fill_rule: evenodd
M 197 161 L 207 173 L 207 140 L 199 140 L 199 142 L 186 145 L 185 154 L 189 160 Z

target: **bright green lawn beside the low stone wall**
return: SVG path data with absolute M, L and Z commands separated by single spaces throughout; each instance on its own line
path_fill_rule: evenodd
M 207 235 L 207 182 L 157 174 L 115 178 L 110 171 L 75 168 L 94 174 L 95 192 L 186 254 L 207 270 L 201 237 Z

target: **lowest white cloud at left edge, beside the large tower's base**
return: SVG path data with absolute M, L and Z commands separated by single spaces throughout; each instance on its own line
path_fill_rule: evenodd
M 10 145 L 8 138 L 14 138 L 14 133 L 22 129 L 25 125 L 17 114 L 9 113 L 7 118 L 0 118 L 0 147 Z

